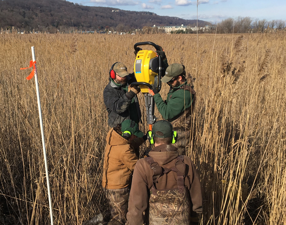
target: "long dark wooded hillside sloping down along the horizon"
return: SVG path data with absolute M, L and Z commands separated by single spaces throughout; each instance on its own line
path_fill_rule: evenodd
M 113 10 L 113 11 L 112 11 Z M 151 12 L 92 7 L 64 0 L 0 0 L 0 28 L 56 32 L 78 29 L 95 31 L 107 28 L 129 31 L 153 25 L 190 25 L 197 20 L 159 16 Z M 210 23 L 198 20 L 198 26 Z

